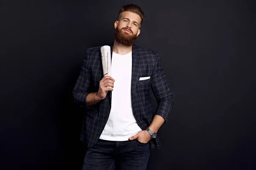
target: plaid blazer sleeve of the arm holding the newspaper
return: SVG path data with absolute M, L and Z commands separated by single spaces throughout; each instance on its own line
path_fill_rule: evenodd
M 87 109 L 88 107 L 86 103 L 86 97 L 88 94 L 90 94 L 90 65 L 89 65 L 89 57 L 90 57 L 90 51 L 87 49 L 84 63 L 81 66 L 81 71 L 79 74 L 78 79 L 76 80 L 76 84 L 73 88 L 73 99 L 74 102 L 76 102 L 79 105 L 85 106 Z

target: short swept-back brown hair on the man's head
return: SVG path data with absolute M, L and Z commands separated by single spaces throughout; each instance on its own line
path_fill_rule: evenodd
M 129 11 L 129 12 L 133 12 L 135 14 L 140 15 L 141 18 L 141 22 L 140 25 L 143 23 L 145 16 L 144 16 L 144 12 L 142 11 L 142 9 L 140 8 L 140 6 L 137 6 L 135 4 L 128 4 L 128 5 L 124 5 L 120 8 L 119 10 L 119 14 L 118 14 L 118 20 L 121 19 L 122 13 L 125 11 Z

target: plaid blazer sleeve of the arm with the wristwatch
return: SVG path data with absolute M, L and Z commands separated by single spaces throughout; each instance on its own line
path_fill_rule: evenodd
M 156 54 L 154 71 L 151 76 L 151 89 L 157 101 L 155 114 L 162 116 L 167 123 L 174 102 L 172 91 L 163 72 L 163 66 L 158 53 Z

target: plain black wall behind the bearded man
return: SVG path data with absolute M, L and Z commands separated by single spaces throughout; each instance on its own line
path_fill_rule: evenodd
M 127 3 L 143 8 L 136 44 L 159 51 L 175 96 L 148 170 L 256 168 L 255 1 L 1 0 L 0 169 L 81 170 L 72 90 Z

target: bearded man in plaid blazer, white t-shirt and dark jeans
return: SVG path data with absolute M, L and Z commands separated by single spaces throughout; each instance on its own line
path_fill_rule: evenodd
M 143 15 L 137 5 L 120 9 L 110 45 L 112 77 L 103 77 L 101 47 L 87 49 L 73 89 L 75 102 L 86 108 L 83 170 L 145 170 L 150 148 L 160 148 L 157 131 L 167 122 L 173 95 L 159 54 L 134 45 Z

